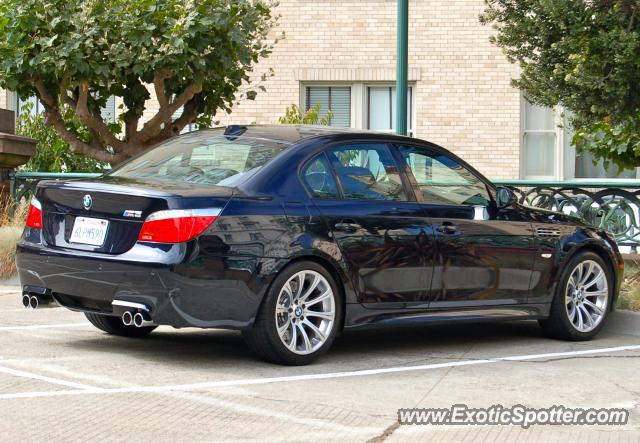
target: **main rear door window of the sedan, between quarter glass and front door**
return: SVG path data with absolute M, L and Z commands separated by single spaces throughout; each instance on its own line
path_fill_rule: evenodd
M 398 167 L 384 144 L 358 144 L 327 151 L 345 199 L 406 200 Z

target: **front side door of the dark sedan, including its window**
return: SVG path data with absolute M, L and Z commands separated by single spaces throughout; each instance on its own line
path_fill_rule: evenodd
M 452 155 L 422 146 L 398 152 L 436 236 L 429 307 L 526 303 L 537 252 L 528 213 L 498 208 L 495 191 Z

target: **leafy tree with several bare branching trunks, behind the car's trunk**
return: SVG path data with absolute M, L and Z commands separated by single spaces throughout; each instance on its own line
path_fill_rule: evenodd
M 188 124 L 211 125 L 239 97 L 255 98 L 249 75 L 276 41 L 267 35 L 276 21 L 272 6 L 269 0 L 0 0 L 0 87 L 37 96 L 47 124 L 73 153 L 114 165 Z M 140 125 L 150 89 L 159 109 Z M 124 103 L 116 125 L 100 113 L 111 96 Z M 87 139 L 67 124 L 67 110 L 86 127 Z

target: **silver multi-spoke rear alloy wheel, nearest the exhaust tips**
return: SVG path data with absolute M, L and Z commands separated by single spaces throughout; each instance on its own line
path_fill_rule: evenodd
M 276 302 L 276 327 L 289 351 L 300 355 L 317 351 L 331 334 L 336 303 L 331 285 L 316 271 L 289 278 Z

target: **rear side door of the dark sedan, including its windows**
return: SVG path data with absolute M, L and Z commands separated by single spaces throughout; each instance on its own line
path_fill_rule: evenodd
M 302 174 L 348 264 L 358 302 L 368 308 L 427 303 L 435 238 L 390 147 L 336 146 Z

